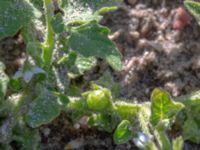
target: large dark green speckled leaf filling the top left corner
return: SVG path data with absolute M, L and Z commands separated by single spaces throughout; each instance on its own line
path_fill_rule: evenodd
M 28 0 L 0 1 L 0 38 L 15 35 L 41 14 Z

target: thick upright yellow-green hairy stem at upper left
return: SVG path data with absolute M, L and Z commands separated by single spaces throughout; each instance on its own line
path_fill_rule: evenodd
M 54 31 L 51 26 L 53 19 L 53 2 L 52 0 L 44 0 L 45 18 L 47 26 L 47 36 L 43 48 L 44 67 L 48 69 L 51 66 L 52 54 L 54 49 Z

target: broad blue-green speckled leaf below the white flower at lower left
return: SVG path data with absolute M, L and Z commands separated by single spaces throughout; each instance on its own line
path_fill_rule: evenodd
M 26 121 L 32 128 L 36 128 L 51 122 L 59 114 L 60 104 L 58 99 L 44 89 L 33 101 L 32 106 L 26 115 Z

